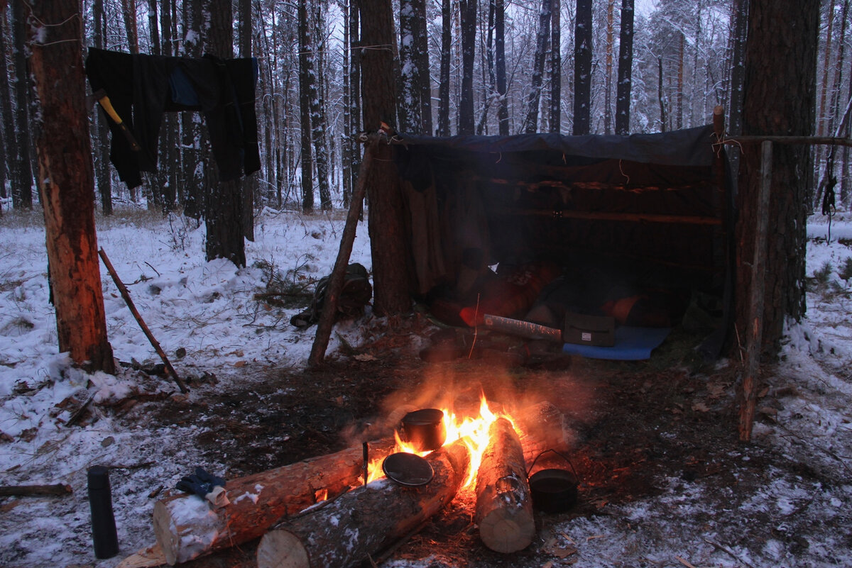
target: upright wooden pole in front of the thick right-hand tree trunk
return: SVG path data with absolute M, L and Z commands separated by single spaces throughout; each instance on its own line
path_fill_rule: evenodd
M 757 406 L 757 374 L 760 372 L 760 355 L 763 350 L 763 294 L 766 280 L 767 233 L 769 231 L 769 190 L 772 185 L 772 141 L 761 145 L 760 188 L 757 194 L 757 228 L 754 256 L 751 260 L 750 328 L 746 336 L 746 375 L 740 392 L 740 440 L 751 440 Z

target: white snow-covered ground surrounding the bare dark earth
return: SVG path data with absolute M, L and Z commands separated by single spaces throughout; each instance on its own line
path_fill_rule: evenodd
M 175 386 L 131 367 L 123 367 L 115 377 L 85 375 L 57 352 L 39 218 L 40 213 L 8 211 L 0 218 L 0 485 L 61 483 L 72 486 L 73 494 L 0 498 L 0 565 L 112 568 L 154 542 L 149 493 L 158 486 L 174 486 L 187 473 L 177 471 L 175 463 L 196 463 L 193 446 L 184 442 L 199 427 L 140 424 L 125 429 L 109 412 L 111 401 L 131 392 L 167 393 Z M 256 241 L 247 243 L 248 267 L 243 270 L 227 261 L 204 262 L 204 226 L 181 217 L 160 219 L 126 209 L 98 223 L 99 247 L 128 284 L 147 326 L 182 375 L 203 382 L 205 373 L 215 372 L 216 389 L 227 389 L 229 381 L 250 380 L 263 369 L 304 364 L 313 334 L 306 336 L 290 325 L 298 309 L 282 316 L 279 310 L 262 309 L 253 297 L 266 288 L 273 272 L 296 283 L 327 274 L 337 256 L 342 214 L 263 211 Z M 606 516 L 551 527 L 555 539 L 550 546 L 573 547 L 565 563 L 852 565 L 852 216 L 833 219 L 831 241 L 826 241 L 827 233 L 826 219 L 811 219 L 808 317 L 788 331 L 783 361 L 769 381 L 782 408 L 774 424 L 756 425 L 755 441 L 758 449 L 809 455 L 813 467 L 834 472 L 838 482 L 825 486 L 807 478 L 773 478 L 773 472 L 766 472 L 772 481 L 737 503 L 742 510 L 778 519 L 777 531 L 756 554 L 726 546 L 720 532 L 705 532 L 707 526 L 716 526 L 707 519 L 740 513 L 705 510 L 711 496 L 700 484 L 684 487 L 681 480 L 659 480 L 664 496 L 658 503 L 639 500 L 613 507 Z M 366 224 L 359 226 L 352 261 L 370 266 Z M 117 360 L 158 363 L 105 270 L 102 280 L 109 340 Z M 344 327 L 341 332 L 357 343 L 356 329 Z M 338 342 L 332 337 L 330 352 Z M 93 392 L 86 391 L 89 382 L 96 387 L 94 408 L 100 419 L 68 427 L 71 411 L 63 401 Z M 737 459 L 747 461 L 749 452 L 744 447 Z M 112 559 L 95 559 L 90 540 L 86 471 L 95 464 L 112 468 L 120 546 Z M 677 508 L 682 518 L 662 518 L 659 503 L 666 510 Z M 820 531 L 797 536 L 796 515 L 820 524 Z M 794 541 L 797 546 L 790 544 Z M 552 565 L 564 565 L 558 554 L 554 560 Z M 426 566 L 430 561 L 396 560 L 389 565 Z

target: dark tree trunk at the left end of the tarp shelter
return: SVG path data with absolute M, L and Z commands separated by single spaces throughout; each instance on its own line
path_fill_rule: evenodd
M 361 43 L 381 48 L 361 54 L 361 100 L 364 128 L 375 132 L 382 122 L 394 128 L 394 18 L 391 0 L 360 0 Z M 403 208 L 393 149 L 379 144 L 367 174 L 373 310 L 394 315 L 411 309 L 408 259 L 402 239 Z

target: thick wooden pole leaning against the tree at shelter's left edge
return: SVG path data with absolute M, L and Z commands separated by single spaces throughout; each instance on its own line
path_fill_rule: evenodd
M 358 183 L 355 184 L 355 189 L 349 201 L 349 212 L 346 217 L 346 226 L 343 228 L 343 236 L 340 240 L 340 249 L 337 251 L 337 260 L 334 263 L 334 269 L 331 270 L 331 280 L 325 289 L 322 314 L 320 315 L 320 321 L 317 323 L 317 332 L 314 337 L 314 344 L 311 346 L 311 354 L 308 356 L 308 366 L 310 367 L 315 368 L 322 365 L 323 359 L 325 359 L 325 349 L 328 348 L 331 328 L 334 327 L 335 315 L 337 315 L 337 298 L 340 297 L 340 292 L 343 290 L 343 279 L 346 275 L 349 257 L 352 254 L 355 230 L 358 227 L 358 219 L 361 216 L 361 209 L 364 205 L 367 172 L 370 170 L 376 144 L 377 139 L 371 138 L 364 148 L 364 157 L 361 159 L 361 166 L 358 170 Z

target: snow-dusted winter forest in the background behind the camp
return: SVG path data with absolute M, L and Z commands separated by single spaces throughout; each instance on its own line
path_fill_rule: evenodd
M 738 133 L 744 0 L 394 0 L 391 45 L 362 41 L 370 33 L 352 4 L 83 0 L 83 50 L 256 57 L 262 168 L 250 179 L 254 207 L 309 211 L 348 202 L 360 158 L 354 137 L 363 123 L 359 64 L 366 50 L 393 54 L 397 112 L 384 122 L 400 132 L 652 133 L 705 124 L 722 105 L 728 133 Z M 32 207 L 37 199 L 28 12 L 25 2 L 8 3 L 0 22 L 0 72 L 9 77 L 0 89 L 4 208 Z M 815 134 L 849 133 L 848 12 L 847 0 L 822 2 Z M 106 117 L 90 116 L 103 213 L 115 200 L 131 200 L 204 217 L 209 181 L 200 165 L 209 152 L 201 150 L 207 143 L 198 113 L 166 116 L 158 171 L 131 190 L 109 166 Z M 820 164 L 815 188 L 826 164 L 849 168 L 848 149 L 813 152 Z M 848 207 L 849 182 L 838 179 L 839 204 Z

